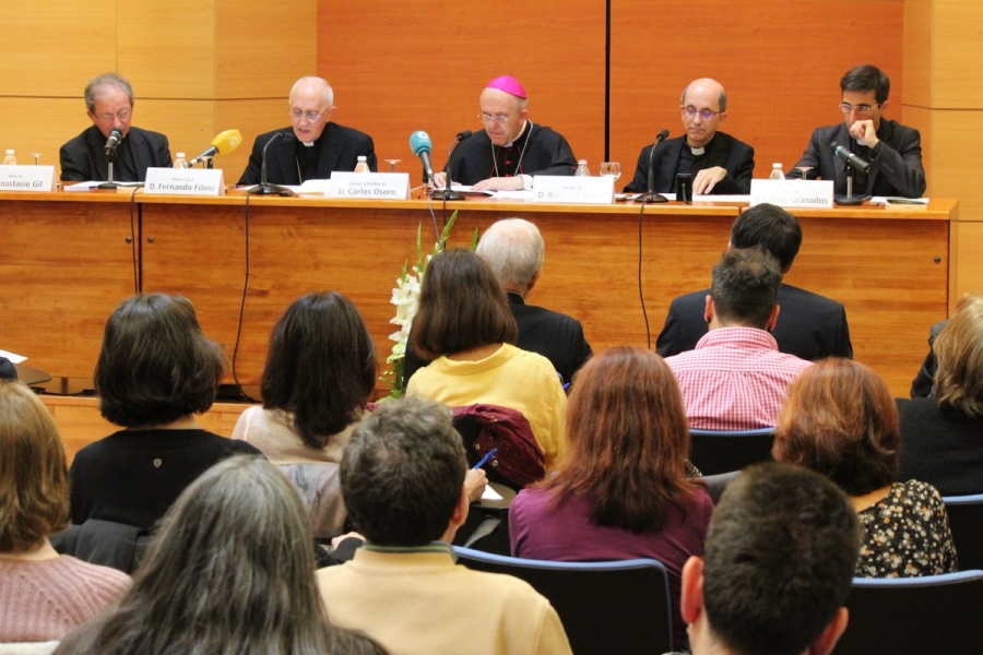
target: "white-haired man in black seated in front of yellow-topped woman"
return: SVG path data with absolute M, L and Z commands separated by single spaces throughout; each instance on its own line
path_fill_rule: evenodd
M 509 309 L 519 326 L 516 345 L 544 356 L 564 382 L 570 382 L 593 352 L 583 336 L 580 321 L 525 303 L 525 297 L 538 282 L 543 269 L 545 246 L 540 229 L 522 218 L 502 218 L 482 235 L 475 252 L 487 262 L 506 291 Z M 416 369 L 427 364 L 407 347 L 404 380 L 408 381 Z

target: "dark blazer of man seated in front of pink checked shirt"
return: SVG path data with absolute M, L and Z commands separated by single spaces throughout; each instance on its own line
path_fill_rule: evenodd
M 709 294 L 710 289 L 704 289 L 673 300 L 655 342 L 656 353 L 668 357 L 696 347 L 708 330 L 703 311 Z M 779 350 L 810 361 L 853 357 L 846 310 L 840 302 L 783 284 L 778 303 L 781 310 L 772 335 Z

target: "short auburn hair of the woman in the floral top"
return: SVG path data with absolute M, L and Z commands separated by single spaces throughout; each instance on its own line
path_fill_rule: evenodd
M 833 357 L 789 386 L 773 455 L 863 496 L 895 479 L 900 444 L 898 407 L 884 380 L 860 362 Z

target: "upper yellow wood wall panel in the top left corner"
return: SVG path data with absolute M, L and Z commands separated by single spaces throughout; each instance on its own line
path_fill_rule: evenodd
M 90 78 L 116 68 L 116 8 L 117 0 L 4 0 L 0 97 L 81 97 Z

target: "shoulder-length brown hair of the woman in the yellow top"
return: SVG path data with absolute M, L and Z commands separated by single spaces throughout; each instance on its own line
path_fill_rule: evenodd
M 427 266 L 412 336 L 413 347 L 434 359 L 487 344 L 514 344 L 519 329 L 488 264 L 470 250 L 454 249 Z

